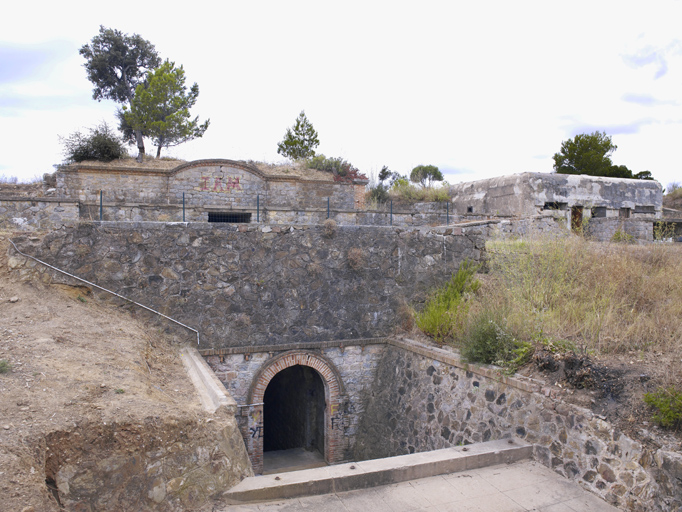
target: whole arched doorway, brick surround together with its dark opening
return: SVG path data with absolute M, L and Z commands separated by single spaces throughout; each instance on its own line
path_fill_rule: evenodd
M 344 402 L 341 377 L 321 354 L 293 350 L 266 361 L 242 413 L 248 416 L 242 434 L 254 473 L 263 472 L 265 451 L 318 450 L 328 464 L 341 462 L 338 414 Z

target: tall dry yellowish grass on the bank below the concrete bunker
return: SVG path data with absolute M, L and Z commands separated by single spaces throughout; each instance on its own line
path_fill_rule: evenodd
M 682 348 L 682 248 L 578 237 L 489 244 L 477 308 L 526 339 L 601 353 Z

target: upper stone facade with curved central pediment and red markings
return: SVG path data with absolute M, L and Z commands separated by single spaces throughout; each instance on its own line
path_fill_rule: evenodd
M 152 206 L 171 207 L 165 208 L 168 210 L 165 213 L 170 215 L 182 206 L 184 197 L 186 212 L 190 214 L 187 220 L 204 222 L 211 210 L 253 212 L 255 217 L 258 207 L 322 208 L 328 199 L 331 208 L 354 210 L 355 189 L 364 191 L 367 183 L 366 180 L 342 183 L 267 174 L 251 164 L 233 160 L 198 160 L 169 170 L 84 163 L 60 168 L 55 182 L 58 197 L 78 200 L 88 212 L 99 208 L 100 192 L 109 212 L 118 207 L 115 215 L 137 209 L 135 215 L 140 216 L 147 210 L 155 211 Z M 123 219 L 105 217 L 105 220 Z

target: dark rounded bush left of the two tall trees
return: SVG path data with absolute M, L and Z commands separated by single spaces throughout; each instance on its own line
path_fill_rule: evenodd
M 67 163 L 86 160 L 111 162 L 128 156 L 123 140 L 112 131 L 107 123 L 91 128 L 88 135 L 74 132 L 66 138 L 60 137 L 60 140 L 64 146 Z

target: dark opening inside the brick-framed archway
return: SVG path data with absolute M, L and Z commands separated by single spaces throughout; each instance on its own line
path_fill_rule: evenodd
M 263 451 L 303 448 L 324 456 L 324 384 L 309 366 L 275 375 L 263 400 Z

